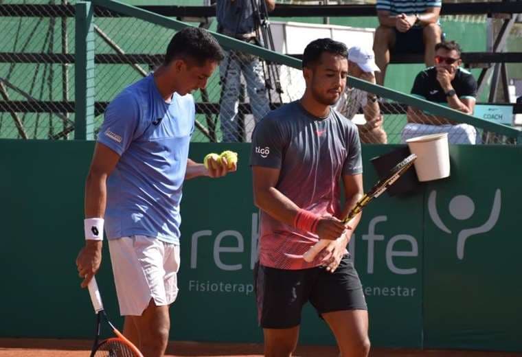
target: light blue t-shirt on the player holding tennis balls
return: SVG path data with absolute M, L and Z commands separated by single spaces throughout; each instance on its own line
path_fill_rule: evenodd
M 107 106 L 98 142 L 118 154 L 107 180 L 107 238 L 147 235 L 179 244 L 179 203 L 194 131 L 194 98 L 166 103 L 152 75 Z

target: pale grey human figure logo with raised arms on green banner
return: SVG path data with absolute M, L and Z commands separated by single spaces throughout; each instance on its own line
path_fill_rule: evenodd
M 451 198 L 448 208 L 451 216 L 457 220 L 467 220 L 468 218 L 471 218 L 471 216 L 473 216 L 473 214 L 475 213 L 475 203 L 469 196 L 466 195 L 457 195 Z M 484 224 L 481 224 L 479 227 L 462 229 L 462 231 L 459 231 L 459 233 L 457 234 L 457 257 L 459 258 L 459 260 L 464 259 L 464 246 L 468 238 L 480 233 L 486 233 L 490 231 L 493 227 L 495 227 L 495 224 L 497 224 L 497 221 L 499 220 L 500 209 L 501 190 L 497 189 L 497 191 L 495 192 L 495 197 L 493 198 L 491 213 L 488 220 L 486 220 L 486 222 L 484 222 Z M 446 224 L 442 222 L 438 214 L 437 191 L 435 189 L 431 191 L 429 194 L 428 212 L 429 216 L 431 217 L 431 220 L 433 220 L 433 223 L 435 223 L 435 226 L 437 226 L 441 231 L 451 234 L 451 230 L 448 227 L 446 227 Z

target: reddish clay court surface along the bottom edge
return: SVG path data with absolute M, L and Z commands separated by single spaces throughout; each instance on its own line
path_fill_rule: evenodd
M 85 357 L 91 343 L 75 340 L 36 340 L 0 338 L 0 357 Z M 262 357 L 262 345 L 171 342 L 166 356 Z M 295 356 L 337 357 L 335 347 L 299 346 Z M 372 349 L 371 357 L 522 357 L 522 353 L 471 351 L 415 351 L 403 349 Z

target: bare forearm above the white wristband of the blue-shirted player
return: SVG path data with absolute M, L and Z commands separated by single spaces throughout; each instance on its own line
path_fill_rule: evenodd
M 85 218 L 103 218 L 107 199 L 107 175 L 89 172 L 85 182 Z

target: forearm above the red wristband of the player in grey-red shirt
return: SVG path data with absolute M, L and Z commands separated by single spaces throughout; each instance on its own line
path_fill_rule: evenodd
M 275 187 L 254 192 L 254 204 L 267 214 L 293 226 L 299 207 Z

